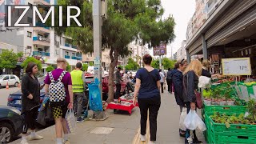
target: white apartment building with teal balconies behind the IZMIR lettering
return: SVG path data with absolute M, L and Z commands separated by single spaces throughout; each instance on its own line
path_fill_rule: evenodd
M 46 6 L 56 3 L 56 0 L 22 0 L 20 4 Z M 31 19 L 28 18 L 28 21 Z M 36 22 L 36 26 L 2 31 L 0 42 L 22 48 L 24 57 L 33 56 L 40 59 L 43 62 L 43 72 L 46 72 L 45 69 L 48 65 L 56 64 L 57 58 L 66 58 L 71 70 L 74 69 L 77 62 L 82 62 L 82 52 L 78 50 L 77 46 L 72 46 L 70 41 L 67 41 L 71 38 L 64 35 L 58 36 L 54 33 L 53 28 L 47 27 L 41 22 Z M 6 49 L 6 47 L 0 45 L 0 49 Z

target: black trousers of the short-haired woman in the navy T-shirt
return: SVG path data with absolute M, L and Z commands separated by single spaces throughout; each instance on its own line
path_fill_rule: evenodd
M 154 98 L 138 98 L 138 106 L 141 111 L 141 134 L 146 134 L 147 111 L 150 110 L 150 141 L 156 141 L 158 110 L 161 106 L 160 95 Z

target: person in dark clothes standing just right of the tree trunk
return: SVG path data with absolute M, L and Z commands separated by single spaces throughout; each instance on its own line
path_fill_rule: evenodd
M 118 102 L 118 98 L 120 97 L 121 92 L 121 82 L 122 82 L 122 75 L 120 73 L 121 67 L 118 67 L 118 70 L 115 72 L 115 94 L 114 94 L 114 102 Z M 117 110 L 114 109 L 114 114 L 117 113 Z

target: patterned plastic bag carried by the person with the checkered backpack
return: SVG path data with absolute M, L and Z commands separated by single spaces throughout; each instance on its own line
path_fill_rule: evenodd
M 74 110 L 73 109 L 69 109 L 66 111 L 66 122 L 67 122 L 67 130 L 68 133 L 74 133 L 75 130 L 75 126 L 76 126 L 76 118 L 74 117 Z

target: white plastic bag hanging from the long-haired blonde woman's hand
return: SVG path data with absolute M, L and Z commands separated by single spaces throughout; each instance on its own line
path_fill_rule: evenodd
M 186 115 L 184 125 L 189 130 L 200 130 L 205 131 L 206 125 L 202 122 L 202 119 L 198 116 L 195 110 L 190 110 L 189 114 Z

